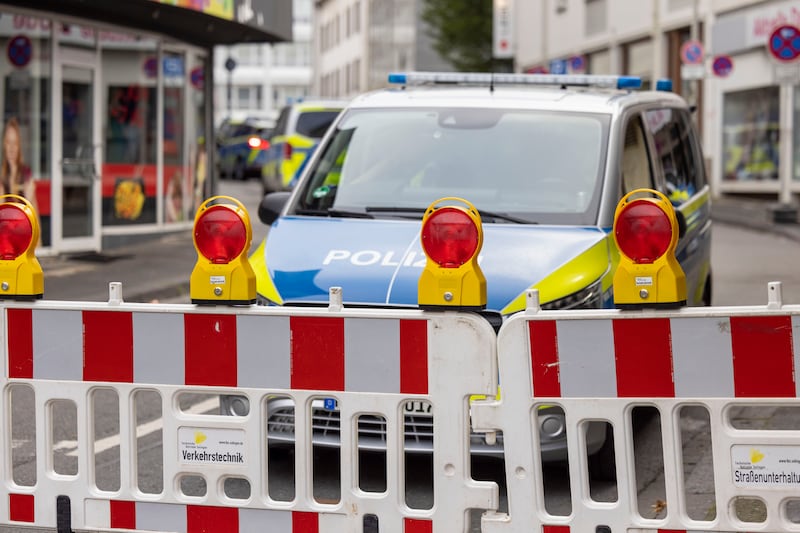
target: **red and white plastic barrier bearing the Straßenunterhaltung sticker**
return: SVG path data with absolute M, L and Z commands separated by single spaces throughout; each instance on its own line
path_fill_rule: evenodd
M 529 296 L 530 297 L 530 296 Z M 772 308 L 775 307 L 775 308 Z M 800 307 L 691 308 L 678 311 L 536 311 L 509 319 L 498 334 L 502 398 L 476 402 L 472 421 L 504 436 L 508 514 L 487 513 L 485 532 L 797 531 L 786 503 L 800 489 L 800 438 L 794 431 L 734 428 L 736 404 L 800 406 Z M 566 416 L 571 513 L 545 509 L 537 406 Z M 631 412 L 660 413 L 664 517 L 642 516 L 637 502 Z M 704 407 L 712 428 L 716 512 L 690 518 L 679 411 Z M 614 428 L 617 501 L 590 493 L 585 431 Z M 754 477 L 756 476 L 756 477 Z M 758 478 L 758 479 L 756 479 Z M 743 522 L 734 502 L 763 502 L 765 516 Z M 608 528 L 608 529 L 604 529 Z

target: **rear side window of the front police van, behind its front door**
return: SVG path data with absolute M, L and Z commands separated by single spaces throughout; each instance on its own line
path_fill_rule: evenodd
M 680 205 L 705 185 L 691 117 L 686 110 L 664 108 L 648 111 L 645 118 L 653 135 L 666 194 L 673 204 Z

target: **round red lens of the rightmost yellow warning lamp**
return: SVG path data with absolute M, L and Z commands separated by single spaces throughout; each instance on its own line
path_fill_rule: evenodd
M 672 242 L 672 223 L 658 205 L 637 200 L 617 217 L 617 245 L 634 263 L 649 264 L 664 255 Z

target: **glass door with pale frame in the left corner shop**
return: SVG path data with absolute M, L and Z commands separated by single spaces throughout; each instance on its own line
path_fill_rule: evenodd
M 74 51 L 62 55 L 60 106 L 61 185 L 54 230 L 60 251 L 99 251 L 100 175 L 96 56 Z M 58 130 L 56 130 L 59 133 Z M 56 137 L 58 138 L 58 136 Z M 60 200 L 60 201 L 59 201 Z M 60 231 L 58 231 L 60 230 Z

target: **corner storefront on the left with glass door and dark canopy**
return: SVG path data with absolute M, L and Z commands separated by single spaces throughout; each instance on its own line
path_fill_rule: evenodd
M 0 2 L 0 193 L 35 204 L 41 252 L 190 227 L 215 190 L 213 46 L 291 40 L 291 19 L 278 0 Z

